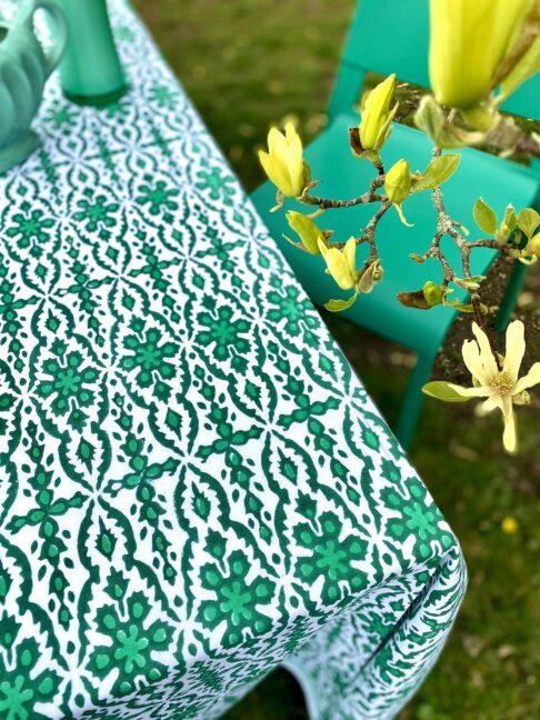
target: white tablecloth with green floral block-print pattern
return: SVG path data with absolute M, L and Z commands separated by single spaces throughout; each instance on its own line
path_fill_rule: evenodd
M 313 719 L 391 718 L 459 607 L 458 543 L 110 4 L 130 94 L 53 80 L 0 178 L 0 718 L 211 720 L 280 663 Z

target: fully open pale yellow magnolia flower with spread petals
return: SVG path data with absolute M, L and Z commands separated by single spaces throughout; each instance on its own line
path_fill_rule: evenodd
M 508 452 L 516 452 L 518 441 L 513 406 L 529 402 L 527 390 L 540 383 L 540 362 L 536 362 L 526 376 L 518 378 L 526 349 L 523 323 L 520 320 L 514 320 L 508 326 L 507 352 L 502 369 L 497 364 L 488 337 L 476 322 L 472 323 L 472 332 L 476 340 L 466 340 L 462 353 L 474 387 L 462 388 L 452 382 L 428 382 L 423 391 L 448 402 L 483 398 L 478 408 L 479 414 L 497 409 L 502 412 L 502 442 Z

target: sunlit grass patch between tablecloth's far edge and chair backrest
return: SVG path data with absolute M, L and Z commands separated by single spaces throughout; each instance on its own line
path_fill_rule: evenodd
M 322 127 L 353 0 L 136 0 L 161 50 L 249 189 L 270 123 Z

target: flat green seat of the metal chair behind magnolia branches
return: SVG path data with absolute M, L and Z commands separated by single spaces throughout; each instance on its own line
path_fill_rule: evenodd
M 327 198 L 349 199 L 361 194 L 373 177 L 372 166 L 354 158 L 348 144 L 348 128 L 358 124 L 356 113 L 338 116 L 332 124 L 306 151 L 314 180 L 323 180 L 313 189 L 313 194 Z M 383 160 L 389 169 L 397 160 L 409 160 L 411 170 L 422 171 L 431 158 L 430 140 L 416 129 L 397 124 L 383 149 Z M 497 211 L 501 218 L 508 202 L 517 210 L 533 203 L 538 192 L 538 179 L 526 167 L 501 160 L 478 150 L 461 151 L 458 172 L 443 187 L 444 202 L 449 213 L 462 222 L 471 232 L 471 238 L 482 237 L 472 219 L 472 208 L 479 197 Z M 253 202 L 274 238 L 282 233 L 293 236 L 284 212 L 269 213 L 276 203 L 276 188 L 266 182 L 252 196 Z M 347 240 L 359 234 L 371 218 L 377 206 L 356 207 L 342 210 L 328 210 L 317 222 L 321 229 L 333 229 L 336 240 Z M 296 200 L 288 201 L 287 208 L 302 210 Z M 397 212 L 391 209 L 378 226 L 378 246 L 384 269 L 383 282 L 346 311 L 354 322 L 369 328 L 383 337 L 420 353 L 434 354 L 456 317 L 449 308 L 433 308 L 429 311 L 403 307 L 396 294 L 403 290 L 419 290 L 428 280 L 442 279 L 440 263 L 429 260 L 422 264 L 410 260 L 411 252 L 422 253 L 430 244 L 436 228 L 437 214 L 431 193 L 424 191 L 409 198 L 403 204 L 407 220 L 414 227 L 401 223 Z M 330 298 L 346 298 L 333 280 L 323 272 L 320 257 L 309 256 L 281 239 L 281 249 L 288 262 L 311 299 L 322 304 Z M 446 238 L 441 246 L 453 267 L 459 267 L 460 254 L 453 242 Z M 359 247 L 358 267 L 367 256 L 368 248 Z M 479 249 L 471 254 L 471 269 L 474 274 L 484 274 L 494 259 L 496 252 Z M 463 298 L 454 292 L 453 297 Z

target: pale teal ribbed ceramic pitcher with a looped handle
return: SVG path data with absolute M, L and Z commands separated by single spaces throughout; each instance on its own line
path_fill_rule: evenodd
M 47 51 L 33 31 L 39 9 L 50 18 L 52 48 Z M 30 126 L 67 39 L 64 18 L 51 0 L 30 0 L 12 22 L 0 21 L 0 173 L 26 160 L 39 144 Z

